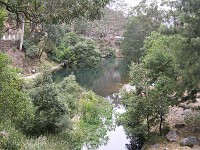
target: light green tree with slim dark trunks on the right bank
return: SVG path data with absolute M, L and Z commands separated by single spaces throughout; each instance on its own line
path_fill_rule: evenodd
M 131 84 L 136 90 L 123 93 L 127 111 L 120 119 L 129 136 L 147 136 L 157 124 L 161 134 L 168 107 L 175 103 L 170 97 L 177 79 L 173 51 L 180 39 L 152 33 L 145 40 L 146 55 L 131 66 Z

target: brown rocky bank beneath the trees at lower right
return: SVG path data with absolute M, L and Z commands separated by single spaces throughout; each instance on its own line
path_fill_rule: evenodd
M 182 107 L 182 105 L 187 105 L 187 108 Z M 175 139 L 169 142 L 165 136 L 160 142 L 144 145 L 145 150 L 200 150 L 200 143 L 193 146 L 180 145 L 181 140 L 191 136 L 200 140 L 200 131 L 195 130 L 196 126 L 199 126 L 199 124 L 196 124 L 196 126 L 191 126 L 190 122 L 185 120 L 188 115 L 194 116 L 196 113 L 198 113 L 195 109 L 200 107 L 200 93 L 197 94 L 195 103 L 182 103 L 180 106 L 181 107 L 170 107 L 166 118 L 166 123 L 168 124 L 170 131 L 175 133 Z M 191 118 L 191 120 L 189 120 L 191 121 L 192 125 L 192 121 L 194 121 L 193 119 Z

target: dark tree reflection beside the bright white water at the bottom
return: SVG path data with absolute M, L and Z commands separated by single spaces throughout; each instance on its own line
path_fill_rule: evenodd
M 126 144 L 128 150 L 140 150 L 145 142 L 143 135 L 133 136 L 130 138 L 130 144 Z

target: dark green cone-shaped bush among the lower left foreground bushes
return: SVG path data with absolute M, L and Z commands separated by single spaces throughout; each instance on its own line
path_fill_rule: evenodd
M 42 135 L 64 130 L 68 124 L 68 110 L 59 100 L 58 91 L 49 71 L 36 78 L 30 97 L 36 108 L 35 116 L 25 121 L 27 134 Z

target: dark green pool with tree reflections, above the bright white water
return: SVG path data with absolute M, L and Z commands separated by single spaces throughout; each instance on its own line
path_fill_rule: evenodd
M 101 59 L 98 68 L 74 71 L 62 69 L 54 74 L 53 79 L 59 82 L 72 73 L 81 86 L 92 89 L 101 96 L 118 92 L 122 84 L 127 83 L 127 65 L 123 59 Z

